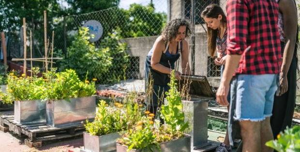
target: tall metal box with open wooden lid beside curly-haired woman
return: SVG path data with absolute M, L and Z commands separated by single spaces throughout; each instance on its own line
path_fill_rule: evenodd
M 191 131 L 191 147 L 197 149 L 210 145 L 208 143 L 208 102 L 215 99 L 215 94 L 210 88 L 210 84 L 205 76 L 181 76 L 179 90 L 189 84 L 190 101 L 182 100 L 184 121 L 189 122 Z M 185 88 L 186 89 L 186 88 Z M 186 91 L 183 91 L 186 92 Z M 167 101 L 165 100 L 165 104 Z

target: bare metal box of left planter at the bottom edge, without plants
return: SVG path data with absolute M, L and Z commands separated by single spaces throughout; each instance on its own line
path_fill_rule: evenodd
M 116 140 L 120 137 L 119 132 L 103 136 L 91 136 L 84 132 L 84 150 L 81 152 L 116 152 Z

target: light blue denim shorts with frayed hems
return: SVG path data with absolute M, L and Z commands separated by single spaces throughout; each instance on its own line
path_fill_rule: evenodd
M 231 81 L 231 100 L 236 121 L 263 121 L 272 115 L 278 75 L 238 75 Z M 235 101 L 234 101 L 235 100 Z

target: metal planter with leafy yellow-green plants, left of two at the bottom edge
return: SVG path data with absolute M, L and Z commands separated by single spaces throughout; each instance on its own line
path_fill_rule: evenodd
M 133 102 L 135 94 L 129 94 L 123 103 L 115 102 L 109 106 L 104 100 L 98 104 L 98 111 L 93 122 L 86 121 L 83 133 L 84 150 L 87 152 L 116 151 L 116 140 L 121 131 L 131 129 L 142 119 L 142 106 Z

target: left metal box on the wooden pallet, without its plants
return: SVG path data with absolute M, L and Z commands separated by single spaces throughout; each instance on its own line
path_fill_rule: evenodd
M 38 100 L 15 101 L 15 122 L 27 124 L 46 121 L 46 102 Z

